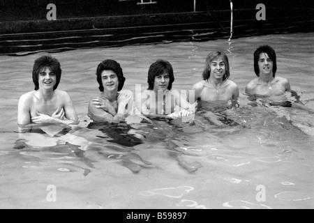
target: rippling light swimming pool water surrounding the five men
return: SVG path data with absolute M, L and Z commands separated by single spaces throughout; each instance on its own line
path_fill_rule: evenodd
M 59 89 L 70 94 L 80 117 L 77 129 L 59 137 L 16 132 L 18 99 L 33 89 L 33 61 L 43 53 L 1 56 L 0 208 L 313 208 L 313 114 L 252 106 L 244 95 L 255 77 L 253 52 L 265 43 L 276 50 L 276 75 L 288 78 L 314 109 L 313 33 L 77 49 L 52 54 L 63 70 Z M 173 88 L 185 90 L 201 79 L 206 56 L 216 49 L 227 53 L 230 79 L 240 88 L 240 107 L 220 112 L 234 125 L 196 118 L 195 125 L 108 127 L 87 117 L 100 61 L 117 60 L 124 89 L 135 93 L 136 84 L 147 87 L 151 63 L 168 60 Z M 47 199 L 50 185 L 56 201 Z

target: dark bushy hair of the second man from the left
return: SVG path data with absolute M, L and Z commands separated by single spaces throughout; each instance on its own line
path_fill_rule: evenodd
M 112 70 L 117 75 L 119 82 L 118 91 L 121 91 L 122 88 L 124 87 L 124 82 L 126 81 L 126 78 L 124 77 L 124 72 L 122 71 L 120 64 L 114 60 L 105 60 L 99 63 L 97 67 L 96 75 L 97 82 L 99 84 L 99 91 L 101 92 L 104 91 L 103 81 L 101 78 L 101 74 L 103 73 L 104 70 Z

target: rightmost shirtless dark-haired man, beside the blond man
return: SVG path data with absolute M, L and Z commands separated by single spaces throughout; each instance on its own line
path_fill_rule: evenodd
M 288 79 L 276 77 L 276 53 L 268 45 L 258 47 L 254 52 L 254 70 L 257 78 L 246 85 L 248 95 L 283 95 L 291 91 Z

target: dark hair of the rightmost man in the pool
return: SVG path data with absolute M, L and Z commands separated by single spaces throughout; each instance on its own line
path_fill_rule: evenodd
M 260 77 L 260 68 L 258 67 L 258 61 L 260 60 L 260 54 L 267 54 L 269 59 L 273 61 L 273 76 L 276 76 L 277 71 L 277 57 L 276 52 L 273 48 L 269 47 L 269 45 L 262 45 L 258 47 L 254 52 L 254 71 L 257 77 Z

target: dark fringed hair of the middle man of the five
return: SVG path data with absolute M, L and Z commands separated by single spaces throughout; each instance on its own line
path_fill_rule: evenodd
M 168 61 L 158 59 L 155 63 L 152 63 L 149 67 L 147 83 L 149 84 L 148 90 L 154 90 L 155 77 L 167 73 L 170 77 L 168 90 L 172 89 L 172 83 L 174 82 L 173 68 Z

